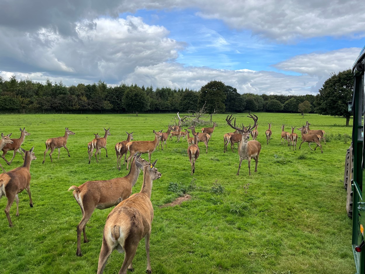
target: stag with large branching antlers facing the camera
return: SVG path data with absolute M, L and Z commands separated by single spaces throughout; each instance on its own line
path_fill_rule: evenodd
M 241 135 L 242 135 L 242 141 L 239 142 L 239 146 L 238 146 L 239 166 L 238 166 L 237 175 L 239 175 L 239 169 L 241 168 L 242 160 L 248 160 L 249 175 L 251 175 L 251 170 L 250 170 L 251 157 L 255 160 L 255 172 L 257 172 L 257 163 L 258 163 L 258 156 L 260 155 L 260 151 L 261 151 L 261 144 L 260 144 L 260 142 L 258 142 L 256 140 L 249 141 L 250 133 L 256 127 L 256 123 L 257 123 L 257 116 L 256 115 L 252 116 L 250 113 L 249 113 L 249 115 L 250 116 L 247 116 L 247 117 L 250 117 L 254 120 L 254 125 L 252 128 L 250 125 L 248 129 L 246 129 L 245 126 L 243 126 L 243 124 L 242 124 L 242 129 L 237 128 L 236 119 L 234 119 L 234 126 L 233 126 L 231 124 L 231 121 L 233 120 L 232 114 L 229 119 L 228 119 L 228 115 L 226 118 L 228 125 L 231 128 L 238 130 L 238 132 L 241 133 Z

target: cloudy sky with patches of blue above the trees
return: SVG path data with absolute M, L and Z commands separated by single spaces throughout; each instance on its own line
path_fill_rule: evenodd
M 356 6 L 358 8 L 356 8 Z M 316 94 L 365 45 L 362 1 L 1 0 L 0 75 Z

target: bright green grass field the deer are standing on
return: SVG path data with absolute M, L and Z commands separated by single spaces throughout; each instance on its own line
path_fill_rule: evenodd
M 226 115 L 215 115 L 217 127 L 209 142 L 208 154 L 199 143 L 200 156 L 193 176 L 187 156 L 187 142 L 168 141 L 164 151 L 152 154 L 162 177 L 154 181 L 151 201 L 154 220 L 150 240 L 153 273 L 354 273 L 351 250 L 351 221 L 346 215 L 343 171 L 351 128 L 345 119 L 307 114 L 258 115 L 258 141 L 262 149 L 258 172 L 248 176 L 247 161 L 237 176 L 237 145 L 233 153 L 223 153 L 223 134 L 233 130 Z M 134 131 L 134 140 L 153 140 L 153 130 L 167 130 L 174 114 L 135 115 L 1 115 L 0 130 L 20 136 L 19 128 L 31 133 L 24 149 L 35 145 L 37 160 L 31 164 L 29 207 L 26 191 L 19 194 L 11 208 L 13 228 L 4 213 L 7 199 L 0 201 L 1 273 L 96 273 L 105 219 L 112 209 L 96 209 L 86 231 L 89 243 L 81 243 L 82 257 L 76 253 L 76 226 L 81 210 L 68 192 L 71 185 L 87 180 L 104 180 L 127 175 L 116 169 L 114 145 Z M 237 114 L 237 122 L 252 123 L 246 114 Z M 311 129 L 323 129 L 327 144 L 310 151 L 305 143 L 292 151 L 280 142 L 281 124 L 299 128 L 310 121 Z M 266 145 L 265 130 L 272 122 L 272 140 Z M 42 164 L 45 141 L 63 136 L 65 127 L 76 133 L 67 146 L 71 157 L 61 149 L 47 154 Z M 93 133 L 109 128 L 108 158 L 101 151 L 99 164 L 88 164 L 87 143 Z M 198 128 L 197 128 L 198 129 Z M 295 130 L 300 136 L 300 132 Z M 315 146 L 312 144 L 312 147 Z M 11 159 L 9 152 L 7 159 Z M 147 155 L 142 155 L 148 160 Z M 22 165 L 18 154 L 9 171 Z M 133 192 L 139 192 L 142 174 Z M 160 208 L 183 193 L 192 199 L 174 207 Z M 124 254 L 113 252 L 104 273 L 118 273 Z M 135 273 L 145 273 L 144 240 L 133 260 Z

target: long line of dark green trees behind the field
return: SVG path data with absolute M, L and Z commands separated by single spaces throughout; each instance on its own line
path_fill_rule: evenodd
M 62 81 L 53 83 L 49 79 L 43 84 L 29 78 L 18 80 L 15 75 L 8 80 L 0 76 L 0 111 L 187 112 L 196 111 L 205 104 L 209 113 L 281 111 L 346 116 L 346 100 L 351 99 L 352 81 L 350 70 L 333 73 L 319 90 L 319 94 L 314 96 L 239 94 L 236 88 L 217 80 L 212 80 L 199 91 L 195 91 L 170 87 L 153 89 L 152 86 L 139 87 L 137 84 L 111 86 L 101 80 L 93 84 L 66 86 Z M 338 96 L 331 95 L 334 90 Z M 334 98 L 327 100 L 328 96 Z M 342 106 L 342 101 L 346 101 L 345 107 Z M 337 107 L 332 107 L 333 104 Z

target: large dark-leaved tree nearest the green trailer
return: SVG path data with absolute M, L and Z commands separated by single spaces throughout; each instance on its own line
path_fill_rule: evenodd
M 332 73 L 316 95 L 315 112 L 322 115 L 343 116 L 348 126 L 350 113 L 347 110 L 347 102 L 351 100 L 353 89 L 354 79 L 351 69 L 337 74 Z

